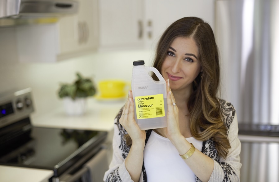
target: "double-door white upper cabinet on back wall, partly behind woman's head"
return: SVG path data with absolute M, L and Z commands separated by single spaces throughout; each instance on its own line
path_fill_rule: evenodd
M 99 49 L 154 49 L 163 31 L 185 16 L 214 28 L 214 0 L 99 0 Z

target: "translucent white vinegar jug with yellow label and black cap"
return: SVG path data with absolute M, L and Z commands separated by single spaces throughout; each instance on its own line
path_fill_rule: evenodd
M 132 70 L 132 93 L 135 121 L 141 130 L 167 126 L 166 81 L 154 67 L 145 67 L 144 60 L 134 61 Z M 159 81 L 153 80 L 154 72 Z

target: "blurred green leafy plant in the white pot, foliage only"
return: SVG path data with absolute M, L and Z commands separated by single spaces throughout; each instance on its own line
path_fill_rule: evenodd
M 80 97 L 93 96 L 96 93 L 96 87 L 90 78 L 83 78 L 80 73 L 76 73 L 77 79 L 72 84 L 61 84 L 58 95 L 60 98 L 71 97 L 72 99 Z

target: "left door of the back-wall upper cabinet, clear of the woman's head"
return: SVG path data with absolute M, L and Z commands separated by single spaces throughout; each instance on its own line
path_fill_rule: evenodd
M 143 47 L 143 1 L 99 0 L 99 49 Z

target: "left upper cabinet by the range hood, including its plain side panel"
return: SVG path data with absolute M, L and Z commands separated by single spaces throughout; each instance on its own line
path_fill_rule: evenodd
M 97 50 L 98 0 L 78 1 L 78 13 L 57 23 L 16 27 L 20 62 L 55 62 Z

